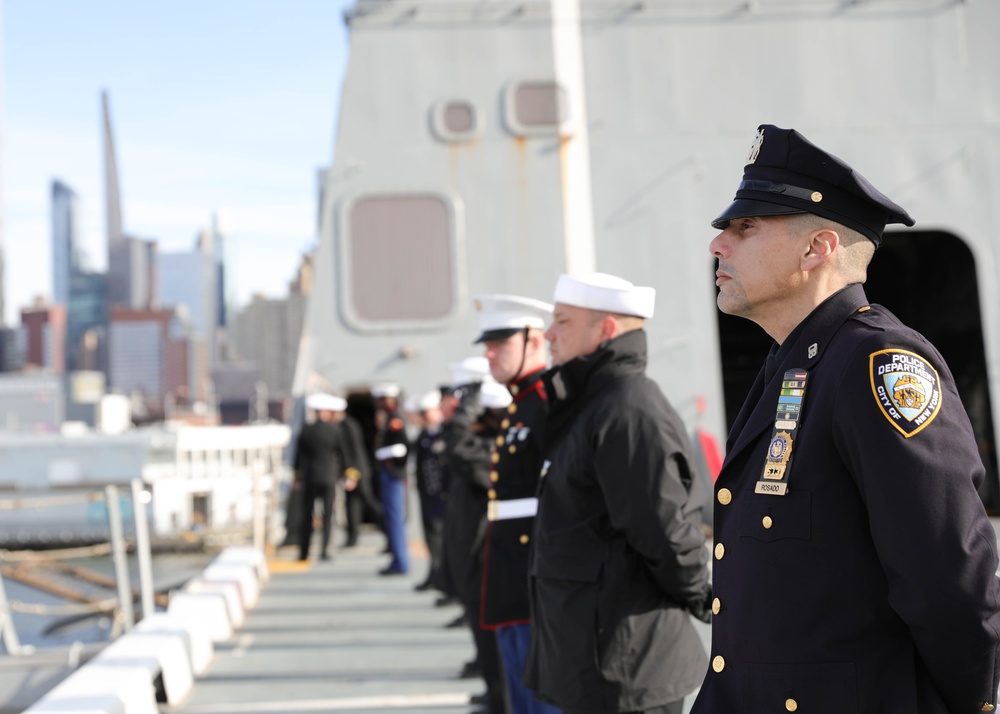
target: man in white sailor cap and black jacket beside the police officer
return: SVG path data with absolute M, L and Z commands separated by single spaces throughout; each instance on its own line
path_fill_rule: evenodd
M 704 619 L 710 599 L 707 494 L 683 422 L 646 376 L 654 300 L 612 275 L 562 275 L 545 333 L 555 367 L 525 684 L 566 712 L 679 714 L 704 673 L 688 613 Z

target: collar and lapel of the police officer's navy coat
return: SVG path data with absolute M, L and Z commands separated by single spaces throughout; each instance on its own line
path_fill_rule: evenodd
M 771 348 L 775 365 L 765 379 L 765 369 L 757 374 L 743 408 L 733 422 L 726 443 L 725 468 L 732 458 L 774 423 L 782 377 L 790 369 L 813 369 L 822 359 L 827 346 L 840 326 L 857 310 L 868 304 L 860 284 L 848 285 L 834 293 L 813 310 L 792 330 L 788 338 Z M 769 359 L 771 358 L 769 355 Z M 808 396 L 803 412 L 808 418 Z

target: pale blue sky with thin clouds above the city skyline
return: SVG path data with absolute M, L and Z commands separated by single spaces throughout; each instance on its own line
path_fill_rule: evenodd
M 105 258 L 100 94 L 127 233 L 188 250 L 218 213 L 238 301 L 281 296 L 316 242 L 316 171 L 333 155 L 346 0 L 2 0 L 6 319 L 51 298 L 53 178 Z

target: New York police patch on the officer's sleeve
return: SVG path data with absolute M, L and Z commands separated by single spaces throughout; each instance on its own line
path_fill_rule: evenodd
M 868 358 L 872 393 L 882 415 L 907 439 L 941 410 L 937 370 L 907 350 L 879 350 Z

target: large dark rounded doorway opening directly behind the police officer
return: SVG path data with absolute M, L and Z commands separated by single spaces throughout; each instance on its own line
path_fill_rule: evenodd
M 1000 513 L 996 437 L 972 251 L 950 233 L 888 232 L 869 266 L 865 292 L 871 302 L 887 307 L 923 334 L 948 363 L 986 466 L 980 498 L 991 514 Z M 772 340 L 749 320 L 721 312 L 718 316 L 728 429 Z

